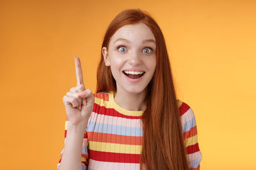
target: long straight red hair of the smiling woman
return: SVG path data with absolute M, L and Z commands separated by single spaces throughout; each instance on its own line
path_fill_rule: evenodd
M 170 60 L 164 36 L 156 21 L 146 11 L 125 10 L 109 24 L 102 47 L 108 49 L 111 36 L 128 24 L 142 22 L 150 28 L 156 39 L 156 71 L 148 84 L 147 110 L 142 115 L 143 146 L 140 168 L 150 169 L 188 169 L 184 146 L 182 125 L 176 99 Z M 105 66 L 104 57 L 97 69 L 96 92 L 116 92 L 116 81 L 110 67 Z

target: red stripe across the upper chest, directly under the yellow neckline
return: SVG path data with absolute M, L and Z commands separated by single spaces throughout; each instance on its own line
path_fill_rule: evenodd
M 100 115 L 107 115 L 111 117 L 122 117 L 122 118 L 131 118 L 131 119 L 140 119 L 140 117 L 135 117 L 135 116 L 127 116 L 123 115 L 122 113 L 119 113 L 113 108 L 106 108 L 105 106 L 100 106 L 97 103 L 93 104 L 93 112 L 98 113 Z

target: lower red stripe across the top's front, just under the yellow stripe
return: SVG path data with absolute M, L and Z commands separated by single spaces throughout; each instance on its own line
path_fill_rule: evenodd
M 90 159 L 103 162 L 140 163 L 140 154 L 100 152 L 89 149 Z M 90 162 L 90 160 L 89 160 Z

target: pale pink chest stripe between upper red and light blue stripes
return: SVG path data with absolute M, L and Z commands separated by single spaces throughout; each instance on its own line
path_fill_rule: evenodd
M 125 127 L 142 127 L 142 122 L 140 119 L 122 118 L 122 117 L 112 117 L 108 115 L 101 115 L 92 112 L 90 122 L 109 124 L 109 125 L 120 125 Z

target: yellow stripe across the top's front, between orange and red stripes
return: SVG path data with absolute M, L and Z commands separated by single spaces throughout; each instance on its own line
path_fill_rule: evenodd
M 89 141 L 89 149 L 100 152 L 141 154 L 142 146 Z

